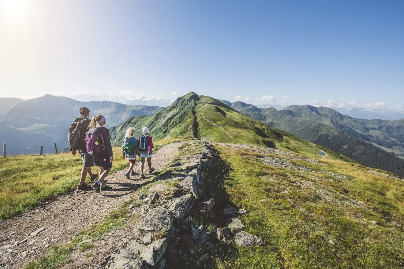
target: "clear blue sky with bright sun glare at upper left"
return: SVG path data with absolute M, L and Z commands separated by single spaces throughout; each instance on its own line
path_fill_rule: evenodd
M 0 96 L 397 108 L 403 14 L 388 0 L 0 0 Z

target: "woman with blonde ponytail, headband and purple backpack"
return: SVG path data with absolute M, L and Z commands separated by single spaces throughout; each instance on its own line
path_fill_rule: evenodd
M 111 171 L 114 160 L 111 135 L 109 130 L 104 127 L 105 123 L 106 119 L 103 115 L 94 116 L 89 125 L 90 130 L 86 133 L 87 150 L 93 155 L 94 165 L 100 167 L 99 179 L 93 185 L 96 192 L 111 189 L 104 181 Z

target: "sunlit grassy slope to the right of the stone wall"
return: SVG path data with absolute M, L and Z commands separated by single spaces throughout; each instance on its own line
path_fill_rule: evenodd
M 337 157 L 326 158 L 323 168 L 350 179 L 325 176 L 320 169 L 278 169 L 253 152 L 216 147 L 231 167 L 224 182 L 231 202 L 251 212 L 242 217 L 246 231 L 267 242 L 238 248 L 238 255 L 217 260 L 216 268 L 402 268 L 404 182 Z M 318 189 L 329 190 L 330 200 L 320 199 Z M 349 198 L 364 206 L 346 204 Z

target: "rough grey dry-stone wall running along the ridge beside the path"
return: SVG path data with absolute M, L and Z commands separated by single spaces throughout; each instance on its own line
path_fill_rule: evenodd
M 197 155 L 186 156 L 187 162 L 176 163 L 156 176 L 158 181 L 177 180 L 178 190 L 173 199 L 160 197 L 158 192 L 139 196 L 141 206 L 135 212 L 139 220 L 128 235 L 118 254 L 112 254 L 106 267 L 113 269 L 163 269 L 167 248 L 181 229 L 189 231 L 189 240 L 205 244 L 208 233 L 204 227 L 190 224 L 189 214 L 196 210 L 207 213 L 215 204 L 214 198 L 205 201 L 205 169 L 213 165 L 214 150 L 210 143 L 202 142 Z M 196 203 L 197 201 L 197 203 Z M 198 206 L 197 206 L 198 205 Z M 198 208 L 196 208 L 198 207 Z M 139 212 L 139 213 L 137 213 Z M 170 255 L 173 255 L 171 252 Z

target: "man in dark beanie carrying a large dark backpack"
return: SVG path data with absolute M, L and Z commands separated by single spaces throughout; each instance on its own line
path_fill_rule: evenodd
M 80 107 L 80 116 L 73 120 L 73 123 L 69 126 L 69 133 L 67 139 L 69 140 L 70 150 L 72 155 L 76 156 L 77 150 L 79 151 L 83 160 L 83 169 L 81 170 L 80 183 L 77 186 L 77 190 L 89 190 L 92 189 L 90 185 L 85 184 L 86 175 L 90 176 L 90 181 L 93 182 L 98 174 L 91 172 L 91 167 L 94 166 L 93 156 L 87 153 L 86 150 L 86 132 L 90 129 L 90 110 L 86 107 Z

